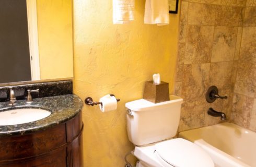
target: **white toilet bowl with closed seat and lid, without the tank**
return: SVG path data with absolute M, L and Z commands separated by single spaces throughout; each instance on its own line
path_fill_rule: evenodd
M 204 150 L 182 138 L 162 141 L 152 146 L 136 146 L 134 155 L 150 167 L 214 167 L 213 160 Z

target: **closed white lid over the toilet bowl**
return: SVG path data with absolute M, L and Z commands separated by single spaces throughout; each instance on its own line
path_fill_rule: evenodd
M 172 166 L 214 167 L 213 160 L 202 148 L 182 138 L 159 142 L 155 150 Z

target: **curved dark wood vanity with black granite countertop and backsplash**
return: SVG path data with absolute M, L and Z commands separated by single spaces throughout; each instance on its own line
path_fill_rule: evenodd
M 11 86 L 15 105 L 9 105 L 9 89 L 0 87 L 0 114 L 16 109 L 42 109 L 51 114 L 21 124 L 5 125 L 0 119 L 0 167 L 83 166 L 83 101 L 73 94 L 72 81 Z M 28 89 L 40 90 L 32 94 L 30 103 L 24 94 Z

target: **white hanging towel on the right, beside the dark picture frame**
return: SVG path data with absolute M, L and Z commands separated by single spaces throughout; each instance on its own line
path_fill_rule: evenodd
M 146 0 L 144 23 L 169 25 L 168 0 Z

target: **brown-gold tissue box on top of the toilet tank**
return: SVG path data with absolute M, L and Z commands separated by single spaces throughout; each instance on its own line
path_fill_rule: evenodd
M 154 81 L 147 81 L 145 83 L 143 99 L 153 103 L 169 101 L 169 84 L 161 81 L 160 84 L 155 85 Z

